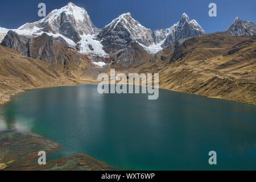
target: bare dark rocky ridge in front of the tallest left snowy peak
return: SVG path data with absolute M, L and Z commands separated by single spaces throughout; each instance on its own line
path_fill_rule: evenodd
M 86 69 L 98 67 L 93 64 L 97 57 L 82 55 L 75 48 L 68 46 L 61 37 L 53 38 L 46 33 L 31 38 L 10 30 L 1 45 L 14 49 L 23 56 L 45 61 L 61 75 L 71 78 L 79 78 Z M 100 61 L 108 62 L 108 59 Z

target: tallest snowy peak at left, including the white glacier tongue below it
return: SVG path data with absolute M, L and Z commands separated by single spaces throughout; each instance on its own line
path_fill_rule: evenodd
M 95 36 L 99 29 L 94 26 L 84 8 L 74 3 L 53 10 L 45 18 L 34 23 L 26 23 L 13 30 L 19 35 L 40 36 L 47 33 L 62 38 L 69 46 L 76 47 L 81 53 L 106 56 L 102 44 Z

